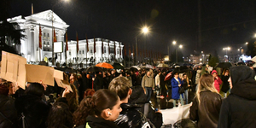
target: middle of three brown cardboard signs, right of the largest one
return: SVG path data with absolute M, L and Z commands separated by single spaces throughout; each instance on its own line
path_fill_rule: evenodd
M 26 81 L 27 82 L 43 82 L 51 86 L 55 85 L 54 67 L 45 67 L 39 65 L 26 64 Z

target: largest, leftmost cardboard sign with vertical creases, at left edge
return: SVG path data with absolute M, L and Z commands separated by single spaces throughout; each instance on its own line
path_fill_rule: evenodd
M 26 58 L 2 51 L 1 78 L 17 83 L 25 90 L 26 84 Z

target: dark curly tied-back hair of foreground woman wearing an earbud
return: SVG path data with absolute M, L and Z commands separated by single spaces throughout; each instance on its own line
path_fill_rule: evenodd
M 110 90 L 97 90 L 93 96 L 86 96 L 79 104 L 79 108 L 73 113 L 75 125 L 84 125 L 88 115 L 101 117 L 104 109 L 117 104 L 119 97 Z

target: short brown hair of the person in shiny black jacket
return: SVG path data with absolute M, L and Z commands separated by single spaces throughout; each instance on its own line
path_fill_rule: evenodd
M 129 79 L 119 76 L 110 82 L 108 89 L 116 93 L 120 100 L 124 100 L 128 96 L 130 84 Z

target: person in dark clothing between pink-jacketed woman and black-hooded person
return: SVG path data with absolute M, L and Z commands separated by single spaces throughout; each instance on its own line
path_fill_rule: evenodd
M 227 97 L 227 91 L 230 90 L 228 79 L 230 79 L 230 71 L 229 69 L 225 69 L 221 76 L 221 80 L 223 81 L 221 91 L 224 92 L 224 98 Z

